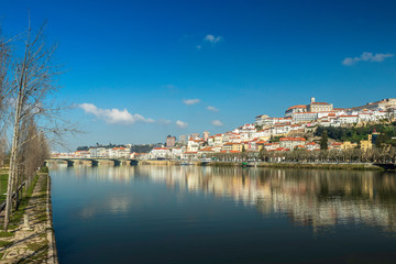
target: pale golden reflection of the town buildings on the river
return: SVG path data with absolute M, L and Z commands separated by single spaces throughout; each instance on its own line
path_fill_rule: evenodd
M 396 231 L 396 176 L 392 173 L 264 169 L 240 167 L 133 166 L 58 167 L 58 177 L 166 185 L 172 191 L 207 194 L 254 208 L 264 217 L 280 215 L 314 230 L 336 224 L 365 224 Z M 179 197 L 183 199 L 183 196 Z M 112 197 L 110 211 L 128 210 L 130 197 Z M 90 217 L 94 209 L 82 215 Z

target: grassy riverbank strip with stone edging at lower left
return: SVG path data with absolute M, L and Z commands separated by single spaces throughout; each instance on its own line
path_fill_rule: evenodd
M 9 227 L 8 232 L 0 232 L 1 263 L 58 263 L 47 173 L 34 178 Z

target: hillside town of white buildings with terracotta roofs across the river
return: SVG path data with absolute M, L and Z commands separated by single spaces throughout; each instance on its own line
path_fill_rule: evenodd
M 361 107 L 334 108 L 329 102 L 318 102 L 312 97 L 308 105 L 292 106 L 282 118 L 261 114 L 253 123 L 246 123 L 231 131 L 210 135 L 168 135 L 166 144 L 153 147 L 148 153 L 131 152 L 131 144 L 121 147 L 89 147 L 74 153 L 53 153 L 55 157 L 117 157 L 135 160 L 199 160 L 215 153 L 260 153 L 293 152 L 295 150 L 319 151 L 320 138 L 315 136 L 318 128 L 359 128 L 370 124 L 389 124 L 395 121 L 396 99 L 382 99 L 367 102 Z M 373 131 L 367 139 L 359 142 L 329 141 L 328 150 L 359 148 L 366 151 L 373 147 L 378 136 Z

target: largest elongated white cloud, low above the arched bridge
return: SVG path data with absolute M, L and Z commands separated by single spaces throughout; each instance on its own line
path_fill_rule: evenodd
M 107 123 L 111 124 L 133 124 L 135 122 L 145 122 L 152 123 L 153 119 L 146 119 L 143 116 L 135 113 L 130 113 L 127 109 L 119 110 L 113 109 L 101 109 L 97 108 L 94 103 L 81 103 L 78 105 L 86 113 L 96 116 L 98 119 L 105 120 Z

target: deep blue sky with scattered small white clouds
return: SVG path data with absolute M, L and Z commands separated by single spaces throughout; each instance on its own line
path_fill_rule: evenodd
M 59 44 L 58 99 L 79 106 L 70 119 L 86 131 L 72 148 L 219 133 L 310 97 L 396 97 L 395 1 L 0 2 L 4 34 L 30 9 Z

